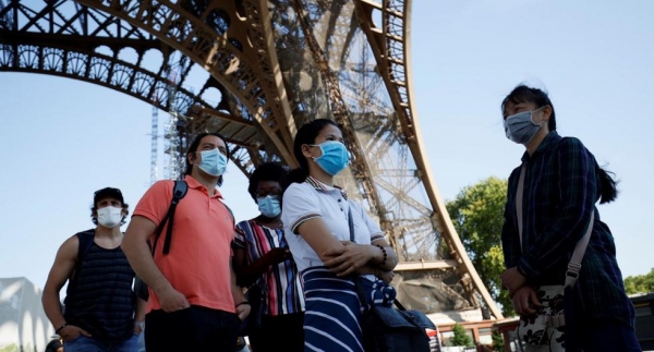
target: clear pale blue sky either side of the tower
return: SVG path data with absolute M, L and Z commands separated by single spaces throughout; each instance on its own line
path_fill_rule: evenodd
M 524 149 L 505 137 L 499 104 L 519 83 L 544 87 L 559 133 L 620 180 L 600 213 L 625 276 L 649 272 L 653 15 L 651 1 L 413 1 L 414 98 L 441 196 L 508 177 Z M 0 72 L 0 277 L 43 288 L 59 245 L 93 227 L 94 191 L 120 187 L 136 205 L 149 184 L 150 110 L 88 83 Z M 256 214 L 237 168 L 221 192 L 238 219 Z

